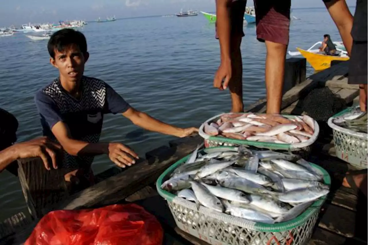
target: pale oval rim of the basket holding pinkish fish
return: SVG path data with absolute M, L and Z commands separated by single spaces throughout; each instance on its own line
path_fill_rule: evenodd
M 213 117 L 209 118 L 204 123 L 212 122 L 212 121 L 218 119 L 223 114 L 240 114 L 240 113 L 221 113 L 221 114 L 218 114 L 216 116 L 213 116 Z M 247 114 L 247 112 L 245 112 L 243 114 Z M 265 113 L 253 113 L 253 114 L 263 115 Z M 289 115 L 289 114 L 280 114 L 280 115 L 283 116 L 283 117 L 287 117 L 287 118 L 299 117 L 299 116 L 294 116 L 294 115 Z M 251 146 L 255 146 L 255 147 L 268 148 L 268 149 L 274 149 L 274 150 L 289 150 L 289 149 L 290 150 L 297 150 L 297 149 L 305 148 L 305 147 L 311 146 L 317 140 L 318 135 L 319 135 L 319 125 L 318 125 L 316 120 L 314 120 L 314 134 L 312 135 L 312 137 L 310 139 L 308 139 L 308 141 L 300 142 L 300 143 L 294 143 L 294 144 L 281 144 L 281 143 L 272 143 L 272 142 L 247 141 L 246 139 L 241 140 L 241 139 L 229 139 L 229 138 L 225 138 L 225 137 L 222 137 L 222 136 L 210 136 L 210 135 L 208 135 L 204 132 L 204 123 L 202 123 L 201 126 L 199 127 L 198 134 L 202 138 L 207 139 L 209 141 L 215 141 L 215 142 L 217 141 L 217 142 L 231 143 L 231 144 L 237 144 L 237 145 L 251 145 Z

